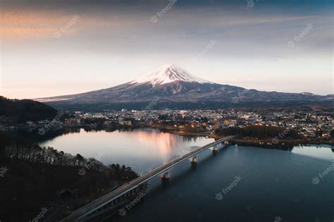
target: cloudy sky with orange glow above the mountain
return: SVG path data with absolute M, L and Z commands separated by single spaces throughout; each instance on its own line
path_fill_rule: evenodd
M 333 94 L 333 1 L 1 0 L 0 95 L 120 85 L 175 63 L 220 84 Z

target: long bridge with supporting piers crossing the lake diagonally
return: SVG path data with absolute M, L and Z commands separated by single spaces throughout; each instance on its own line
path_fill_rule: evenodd
M 194 160 L 194 158 L 196 158 L 196 154 L 199 154 L 206 149 L 214 147 L 213 151 L 216 151 L 216 146 L 218 144 L 224 144 L 231 139 L 233 139 L 233 136 L 221 138 L 220 140 L 206 144 L 205 146 L 194 149 L 183 156 L 168 161 L 168 163 L 163 164 L 158 168 L 154 168 L 149 173 L 141 175 L 139 178 L 132 180 L 130 183 L 126 183 L 125 185 L 118 187 L 118 189 L 107 193 L 103 197 L 99 197 L 93 202 L 90 202 L 89 204 L 82 206 L 80 209 L 73 211 L 69 216 L 63 218 L 61 222 L 92 220 L 92 218 L 104 214 L 111 207 L 119 205 L 123 199 L 135 195 L 135 193 L 140 191 L 140 185 L 147 183 L 149 179 L 166 172 L 169 168 L 172 168 L 176 164 L 180 164 L 180 162 L 185 161 L 186 159 L 193 157 Z

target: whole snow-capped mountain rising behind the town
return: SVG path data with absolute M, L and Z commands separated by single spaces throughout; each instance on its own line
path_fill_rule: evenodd
M 156 101 L 156 98 L 159 98 Z M 35 99 L 61 109 L 144 109 L 151 101 L 161 108 L 212 108 L 242 104 L 333 102 L 334 96 L 246 90 L 199 78 L 174 64 L 116 87 L 60 97 Z

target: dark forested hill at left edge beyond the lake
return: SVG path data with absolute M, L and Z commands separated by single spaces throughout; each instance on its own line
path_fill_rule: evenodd
M 27 121 L 51 120 L 56 109 L 30 99 L 7 99 L 0 96 L 0 124 L 26 123 Z

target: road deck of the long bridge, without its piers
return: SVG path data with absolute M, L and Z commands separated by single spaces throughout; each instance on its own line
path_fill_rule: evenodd
M 150 171 L 149 173 L 146 173 L 139 178 L 132 180 L 130 183 L 127 183 L 121 187 L 118 187 L 118 189 L 109 192 L 108 194 L 104 195 L 103 197 L 100 197 L 99 199 L 94 200 L 93 202 L 90 202 L 89 204 L 86 204 L 85 206 L 82 206 L 80 209 L 73 211 L 72 214 L 70 214 L 68 217 L 63 218 L 61 221 L 80 221 L 80 218 L 83 218 L 84 216 L 90 214 L 91 212 L 99 209 L 101 206 L 108 204 L 109 202 L 117 199 L 118 197 L 121 197 L 125 195 L 125 193 L 130 192 L 131 190 L 135 189 L 142 183 L 146 183 L 147 180 L 153 178 L 156 175 L 159 175 L 163 173 L 164 171 L 168 170 L 169 168 L 175 166 L 175 164 L 179 164 L 181 161 L 184 161 L 185 159 L 190 158 L 190 156 L 194 156 L 198 154 L 199 152 L 204 151 L 205 149 L 209 149 L 210 147 L 214 147 L 215 145 L 228 141 L 232 139 L 233 137 L 224 137 L 220 140 L 216 140 L 215 142 L 211 142 L 209 144 L 206 144 L 203 147 L 199 147 L 197 149 L 192 150 L 191 152 L 180 156 L 178 158 L 173 159 L 172 161 L 168 161 L 168 163 L 163 164 L 159 166 L 158 168 L 155 168 L 154 170 Z

